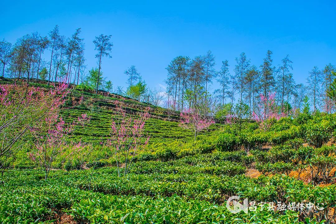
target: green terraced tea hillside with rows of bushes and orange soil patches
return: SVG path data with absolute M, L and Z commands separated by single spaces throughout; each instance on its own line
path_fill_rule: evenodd
M 64 121 L 91 119 L 76 124 L 46 180 L 28 156 L 36 139 L 25 136 L 1 177 L 2 223 L 335 223 L 336 115 L 301 113 L 267 130 L 253 121 L 212 124 L 194 140 L 177 113 L 151 106 L 149 143 L 122 176 L 118 164 L 127 161 L 106 144 L 111 118 L 120 122 L 115 100 L 132 118 L 149 106 L 116 94 L 69 95 Z M 235 195 L 248 198 L 248 214 L 229 212 Z

